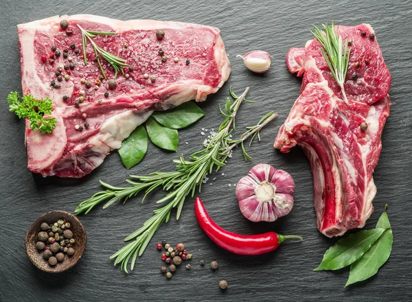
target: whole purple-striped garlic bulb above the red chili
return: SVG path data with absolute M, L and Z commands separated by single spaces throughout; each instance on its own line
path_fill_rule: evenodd
M 242 214 L 253 222 L 272 222 L 293 207 L 295 182 L 288 172 L 265 163 L 255 165 L 236 185 Z

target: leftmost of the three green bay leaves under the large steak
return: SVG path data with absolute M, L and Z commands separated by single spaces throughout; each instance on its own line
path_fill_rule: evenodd
M 117 150 L 124 166 L 128 169 L 140 163 L 148 150 L 148 134 L 144 126 L 138 126 Z

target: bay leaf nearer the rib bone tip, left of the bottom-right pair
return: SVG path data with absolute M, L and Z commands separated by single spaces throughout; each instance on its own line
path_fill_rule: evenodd
M 354 263 L 378 240 L 385 229 L 359 231 L 338 240 L 323 256 L 314 270 L 339 270 Z

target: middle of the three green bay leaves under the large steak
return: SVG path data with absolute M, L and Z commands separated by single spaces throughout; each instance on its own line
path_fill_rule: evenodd
M 146 121 L 146 128 L 150 140 L 156 146 L 165 150 L 177 151 L 179 133 L 176 129 L 164 127 L 152 117 L 149 117 Z

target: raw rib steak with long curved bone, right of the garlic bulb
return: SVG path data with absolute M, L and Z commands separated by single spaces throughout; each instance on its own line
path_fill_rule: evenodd
M 282 152 L 299 145 L 308 157 L 317 226 L 328 237 L 363 227 L 374 211 L 372 174 L 391 105 L 391 74 L 374 30 L 367 24 L 337 29 L 344 40 L 352 40 L 344 85 L 348 104 L 317 39 L 309 40 L 304 48 L 291 48 L 286 65 L 304 78 L 301 95 L 275 141 L 275 148 Z

